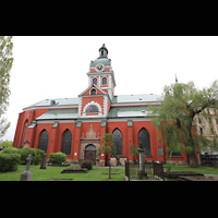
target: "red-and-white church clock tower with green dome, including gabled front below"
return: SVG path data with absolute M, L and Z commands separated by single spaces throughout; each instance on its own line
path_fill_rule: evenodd
M 88 87 L 78 95 L 80 118 L 106 118 L 114 94 L 114 73 L 105 44 L 99 48 L 99 57 L 90 61 Z

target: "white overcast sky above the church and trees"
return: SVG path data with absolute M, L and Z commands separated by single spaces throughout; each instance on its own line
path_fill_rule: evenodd
M 13 37 L 10 106 L 14 137 L 22 109 L 48 98 L 77 97 L 88 86 L 90 60 L 105 43 L 116 76 L 116 95 L 159 94 L 165 85 L 218 80 L 217 36 L 16 36 Z

